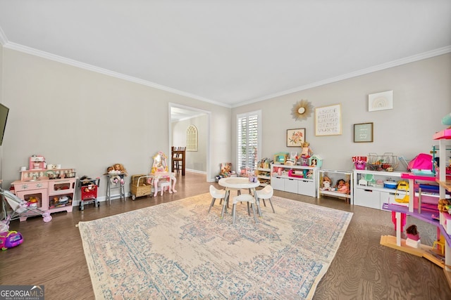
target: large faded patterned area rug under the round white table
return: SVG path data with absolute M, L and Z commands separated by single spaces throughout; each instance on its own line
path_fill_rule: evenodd
M 352 213 L 274 196 L 208 213 L 207 193 L 80 222 L 97 299 L 311 299 Z

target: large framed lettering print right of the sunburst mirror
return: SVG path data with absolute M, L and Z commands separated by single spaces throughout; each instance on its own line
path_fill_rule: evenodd
M 341 104 L 315 108 L 315 136 L 341 134 Z

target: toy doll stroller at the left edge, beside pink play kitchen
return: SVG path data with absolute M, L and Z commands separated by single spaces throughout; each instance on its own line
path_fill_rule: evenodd
M 20 219 L 20 221 L 23 221 L 29 216 L 41 215 L 42 218 L 44 218 L 44 222 L 51 221 L 49 211 L 42 211 L 42 209 L 30 207 L 25 200 L 20 199 L 8 190 L 0 188 L 0 195 L 4 196 L 4 200 L 6 200 L 11 209 L 13 209 L 9 215 L 7 215 L 7 212 L 5 211 L 5 219 L 9 218 L 11 221 Z

